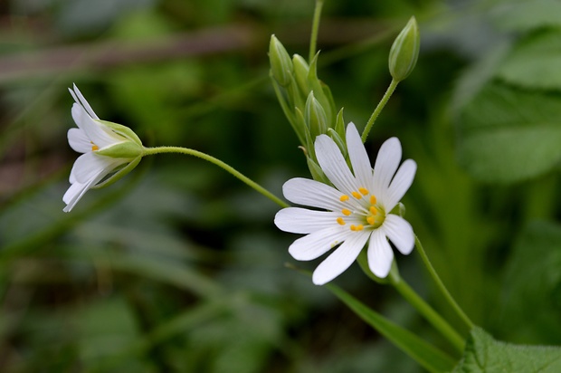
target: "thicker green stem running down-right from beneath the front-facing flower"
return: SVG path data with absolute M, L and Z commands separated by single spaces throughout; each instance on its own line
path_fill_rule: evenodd
M 443 337 L 452 343 L 452 347 L 461 355 L 465 341 L 461 338 L 456 330 L 444 319 L 442 316 L 433 310 L 433 308 L 417 294 L 399 274 L 394 272 L 390 273 L 390 282 L 394 285 L 395 290 L 399 292 L 406 301 L 414 306 L 415 310 L 423 315 L 425 320 L 428 320 L 433 327 L 438 330 Z

